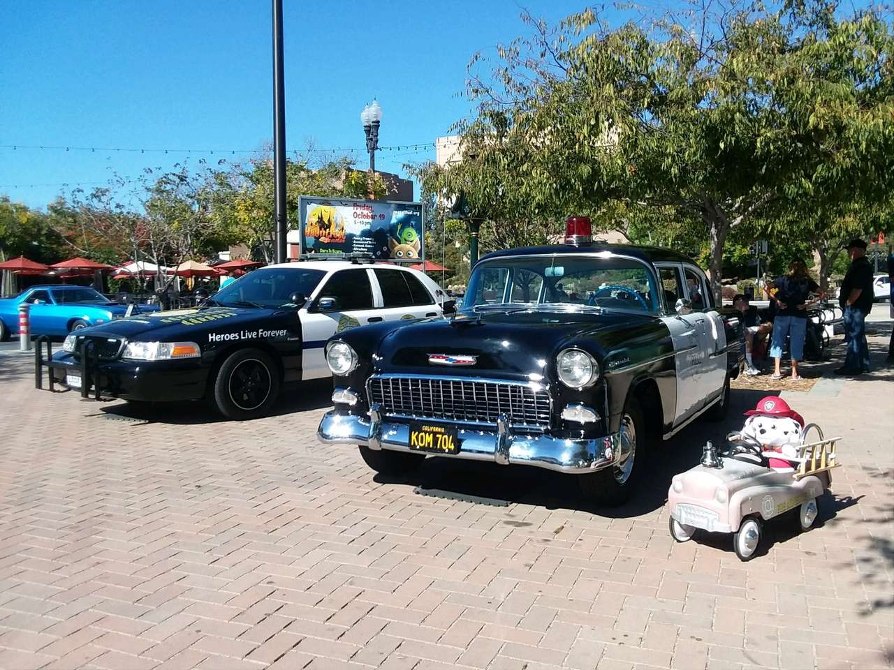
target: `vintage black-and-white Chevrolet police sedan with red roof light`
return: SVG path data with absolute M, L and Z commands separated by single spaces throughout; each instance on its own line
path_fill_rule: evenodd
M 569 218 L 565 241 L 482 257 L 449 320 L 335 334 L 320 440 L 358 444 L 380 473 L 434 454 L 569 473 L 605 505 L 629 498 L 650 440 L 726 414 L 743 328 L 686 255 L 594 243 L 586 217 Z

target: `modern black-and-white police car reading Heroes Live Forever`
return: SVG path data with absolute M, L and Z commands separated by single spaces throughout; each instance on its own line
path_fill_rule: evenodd
M 265 415 L 284 383 L 329 377 L 325 341 L 375 322 L 440 318 L 451 301 L 424 272 L 362 260 L 274 264 L 203 306 L 139 314 L 69 335 L 52 380 L 83 396 L 207 399 L 224 416 Z M 38 381 L 38 386 L 40 385 Z

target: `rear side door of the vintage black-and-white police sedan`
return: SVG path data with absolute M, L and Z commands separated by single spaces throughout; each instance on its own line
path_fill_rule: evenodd
M 683 265 L 692 315 L 697 322 L 702 361 L 698 366 L 698 387 L 702 405 L 723 389 L 727 376 L 726 329 L 714 306 L 714 297 L 704 272 L 695 265 Z

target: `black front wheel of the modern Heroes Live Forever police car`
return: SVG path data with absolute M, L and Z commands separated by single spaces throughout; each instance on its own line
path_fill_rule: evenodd
M 274 360 L 260 349 L 240 349 L 217 371 L 211 401 L 228 419 L 245 421 L 266 415 L 279 397 L 279 389 Z

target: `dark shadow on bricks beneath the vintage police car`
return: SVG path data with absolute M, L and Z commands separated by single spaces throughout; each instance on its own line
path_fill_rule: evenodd
M 507 467 L 443 456 L 426 458 L 414 473 L 400 480 L 376 474 L 375 482 L 401 483 L 547 509 L 577 510 L 611 518 L 641 516 L 654 512 L 667 502 L 673 475 L 698 463 L 706 440 L 713 440 L 715 446 L 721 445 L 727 433 L 742 427 L 745 419 L 743 413 L 746 410 L 752 409 L 760 398 L 776 392 L 732 389 L 730 412 L 726 420 L 709 423 L 699 419 L 671 440 L 657 440 L 649 455 L 648 469 L 641 480 L 640 490 L 634 498 L 620 507 L 601 507 L 594 500 L 584 498 L 578 492 L 575 481 L 580 475 L 552 473 L 526 465 Z

